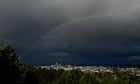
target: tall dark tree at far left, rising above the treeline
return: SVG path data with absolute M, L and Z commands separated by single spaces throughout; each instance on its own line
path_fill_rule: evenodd
M 1 82 L 16 84 L 20 72 L 19 57 L 9 45 L 0 47 L 0 67 Z

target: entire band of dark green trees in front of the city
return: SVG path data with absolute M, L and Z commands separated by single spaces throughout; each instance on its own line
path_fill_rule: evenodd
M 129 72 L 90 73 L 25 65 L 11 46 L 0 47 L 1 84 L 140 84 L 139 79 Z

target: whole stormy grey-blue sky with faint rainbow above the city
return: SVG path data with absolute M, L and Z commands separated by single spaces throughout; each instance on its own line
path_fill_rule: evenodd
M 140 64 L 139 0 L 1 0 L 0 45 L 32 65 Z

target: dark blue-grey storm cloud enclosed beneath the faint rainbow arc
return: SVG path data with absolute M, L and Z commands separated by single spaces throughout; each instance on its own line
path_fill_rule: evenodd
M 98 63 L 138 63 L 134 58 L 140 55 L 139 27 L 138 19 L 130 21 L 116 16 L 86 18 L 50 32 L 38 47 L 31 50 L 41 49 L 41 52 L 48 53 L 48 57 L 58 56 L 64 60 L 72 57 L 80 63 L 87 60 L 89 63 L 97 63 L 97 60 Z

